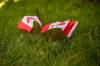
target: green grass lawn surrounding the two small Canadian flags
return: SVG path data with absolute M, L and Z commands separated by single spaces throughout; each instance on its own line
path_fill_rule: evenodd
M 79 25 L 71 38 L 59 29 L 31 33 L 17 28 L 25 15 L 44 24 L 75 16 Z M 100 5 L 82 0 L 21 0 L 0 9 L 0 66 L 99 66 Z M 58 36 L 59 35 L 59 36 Z

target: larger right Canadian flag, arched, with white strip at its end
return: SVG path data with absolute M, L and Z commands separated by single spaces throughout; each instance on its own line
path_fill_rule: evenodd
M 64 22 L 54 22 L 54 23 L 44 25 L 41 29 L 41 32 L 45 33 L 46 31 L 53 28 L 61 28 L 64 36 L 70 37 L 77 25 L 78 25 L 78 21 L 75 21 L 75 20 L 67 20 Z

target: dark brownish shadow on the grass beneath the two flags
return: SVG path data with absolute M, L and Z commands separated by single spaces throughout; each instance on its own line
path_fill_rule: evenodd
M 74 38 L 68 38 L 67 36 L 65 37 L 61 29 L 51 29 L 45 33 L 41 33 L 41 29 L 38 28 L 40 27 L 34 27 L 32 32 L 30 33 L 33 37 L 39 36 L 40 39 L 43 38 L 46 42 L 58 42 L 59 44 L 62 44 L 64 46 L 70 46 L 73 42 Z

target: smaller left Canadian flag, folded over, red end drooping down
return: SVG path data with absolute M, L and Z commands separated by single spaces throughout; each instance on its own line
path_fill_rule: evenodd
M 37 22 L 40 26 L 42 26 L 37 16 L 24 16 L 22 20 L 19 22 L 18 28 L 30 32 L 33 28 L 34 21 Z

